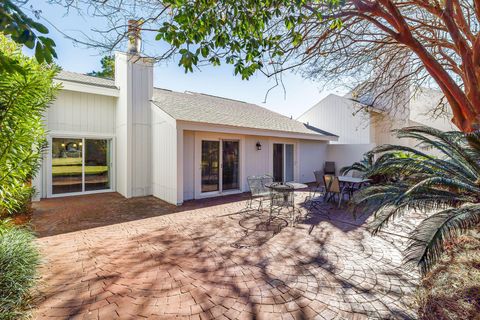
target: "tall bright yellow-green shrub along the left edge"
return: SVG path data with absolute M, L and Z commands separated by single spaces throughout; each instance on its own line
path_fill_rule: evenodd
M 0 216 L 23 208 L 32 195 L 28 180 L 45 146 L 42 114 L 53 100 L 58 68 L 22 55 L 0 34 L 0 52 L 22 72 L 0 72 Z

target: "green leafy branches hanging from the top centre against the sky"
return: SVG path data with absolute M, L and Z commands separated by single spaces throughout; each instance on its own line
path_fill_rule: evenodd
M 167 0 L 171 21 L 158 30 L 157 40 L 165 40 L 181 55 L 179 65 L 192 72 L 202 61 L 216 66 L 224 60 L 235 74 L 248 79 L 255 71 L 280 61 L 303 43 L 302 28 L 307 20 L 323 21 L 308 2 L 287 0 Z M 319 0 L 325 13 L 343 1 Z M 332 28 L 339 19 L 328 19 Z

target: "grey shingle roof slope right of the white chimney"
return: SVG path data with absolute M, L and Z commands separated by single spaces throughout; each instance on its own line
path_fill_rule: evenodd
M 335 137 L 332 133 L 243 101 L 155 88 L 152 102 L 176 120 Z

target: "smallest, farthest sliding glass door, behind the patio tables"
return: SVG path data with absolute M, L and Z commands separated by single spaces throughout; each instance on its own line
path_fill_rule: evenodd
M 289 182 L 294 180 L 293 144 L 273 144 L 273 180 Z

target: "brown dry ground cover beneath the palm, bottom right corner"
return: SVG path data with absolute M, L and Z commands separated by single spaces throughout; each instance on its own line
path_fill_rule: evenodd
M 423 320 L 480 319 L 480 233 L 451 243 L 417 292 Z

